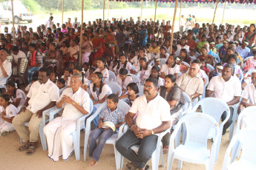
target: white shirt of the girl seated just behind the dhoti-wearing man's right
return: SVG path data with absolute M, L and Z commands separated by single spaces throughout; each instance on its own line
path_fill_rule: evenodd
M 91 95 L 93 95 L 94 101 L 100 101 L 102 100 L 102 98 L 105 97 L 105 95 L 112 94 L 112 90 L 110 86 L 108 86 L 108 84 L 104 84 L 104 86 L 102 86 L 101 93 L 99 93 L 99 89 L 97 88 L 96 88 L 96 91 L 93 92 L 93 84 L 90 84 L 90 91 L 91 91 Z

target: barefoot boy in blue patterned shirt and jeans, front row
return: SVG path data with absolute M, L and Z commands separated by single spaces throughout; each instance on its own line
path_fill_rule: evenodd
M 94 166 L 99 161 L 106 140 L 114 135 L 116 129 L 124 123 L 124 113 L 119 111 L 117 107 L 118 101 L 116 94 L 108 95 L 108 107 L 99 114 L 99 126 L 93 129 L 89 136 L 89 157 L 92 158 L 89 166 Z M 107 123 L 111 126 L 108 126 Z M 99 140 L 98 144 L 96 143 L 97 139 Z

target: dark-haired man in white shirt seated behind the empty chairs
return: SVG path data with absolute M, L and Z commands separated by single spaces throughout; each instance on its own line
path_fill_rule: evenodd
M 233 105 L 238 103 L 241 95 L 241 83 L 234 74 L 234 65 L 226 64 L 222 70 L 221 75 L 217 75 L 211 79 L 209 86 L 207 88 L 206 97 L 219 98 L 224 101 L 230 108 L 229 120 L 225 123 L 223 127 L 223 135 L 226 133 L 226 129 L 232 124 L 233 117 Z M 221 116 L 221 120 L 225 120 L 226 112 Z

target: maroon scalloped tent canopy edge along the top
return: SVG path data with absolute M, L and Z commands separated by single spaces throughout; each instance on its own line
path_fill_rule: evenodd
M 156 0 L 110 0 L 110 1 L 156 1 Z M 160 2 L 175 2 L 175 0 L 159 0 Z M 192 2 L 192 3 L 215 3 L 217 0 L 179 0 L 182 2 Z M 219 2 L 224 3 L 225 0 L 219 0 Z M 226 0 L 229 3 L 236 4 L 256 4 L 256 0 Z

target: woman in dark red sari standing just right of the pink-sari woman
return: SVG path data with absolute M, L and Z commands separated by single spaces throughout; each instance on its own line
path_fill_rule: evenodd
M 104 52 L 104 39 L 99 37 L 99 33 L 95 32 L 94 37 L 91 39 L 93 43 L 93 54 L 91 55 L 90 65 L 96 58 L 101 58 Z

